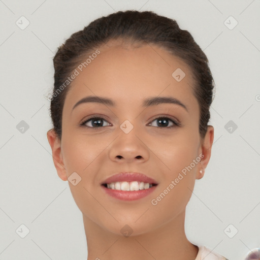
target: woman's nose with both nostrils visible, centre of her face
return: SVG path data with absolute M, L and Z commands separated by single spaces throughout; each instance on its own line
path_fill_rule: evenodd
M 135 161 L 144 163 L 149 159 L 149 148 L 145 140 L 134 130 L 128 134 L 119 131 L 119 136 L 113 142 L 109 150 L 109 157 L 115 162 L 134 163 Z

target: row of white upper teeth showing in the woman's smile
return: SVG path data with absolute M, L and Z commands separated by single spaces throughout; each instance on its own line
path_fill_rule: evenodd
M 116 190 L 128 190 L 128 191 L 133 191 L 133 190 L 141 190 L 141 189 L 149 189 L 152 187 L 152 184 L 150 183 L 144 183 L 143 181 L 117 181 L 117 182 L 111 182 L 107 184 L 107 187 L 109 189 L 116 189 Z

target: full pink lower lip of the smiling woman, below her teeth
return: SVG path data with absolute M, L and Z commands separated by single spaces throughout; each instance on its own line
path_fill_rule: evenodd
M 135 200 L 142 199 L 148 196 L 151 192 L 153 192 L 157 186 L 158 185 L 152 186 L 149 189 L 128 191 L 128 190 L 109 189 L 101 185 L 101 187 L 105 190 L 105 192 L 108 195 L 122 201 L 135 201 Z

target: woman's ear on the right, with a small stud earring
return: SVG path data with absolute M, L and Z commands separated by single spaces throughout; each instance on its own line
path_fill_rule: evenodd
M 212 125 L 208 125 L 207 133 L 205 135 L 205 138 L 202 140 L 200 146 L 200 154 L 203 154 L 203 156 L 201 156 L 198 172 L 196 173 L 196 179 L 201 179 L 204 176 L 205 169 L 209 163 L 209 159 L 211 155 L 211 147 L 213 144 L 213 139 L 214 139 L 214 127 Z

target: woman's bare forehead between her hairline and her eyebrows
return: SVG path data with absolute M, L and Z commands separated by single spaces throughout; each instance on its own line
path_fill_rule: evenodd
M 87 95 L 104 96 L 124 106 L 141 104 L 149 96 L 173 96 L 187 108 L 198 107 L 190 68 L 164 48 L 114 40 L 98 50 L 87 63 L 88 56 L 79 62 L 81 70 L 76 68 L 79 74 L 71 82 L 64 107 L 72 107 Z

